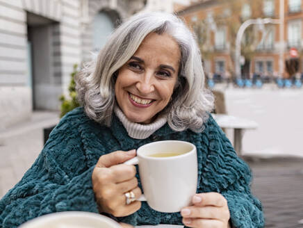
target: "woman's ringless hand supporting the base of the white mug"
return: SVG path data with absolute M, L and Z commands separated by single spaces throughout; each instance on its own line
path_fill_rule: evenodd
M 187 227 L 230 227 L 227 200 L 220 193 L 199 193 L 192 202 L 193 206 L 181 210 L 182 222 Z

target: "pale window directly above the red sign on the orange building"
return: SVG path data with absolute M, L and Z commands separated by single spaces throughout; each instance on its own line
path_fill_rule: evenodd
M 301 46 L 301 21 L 288 22 L 287 27 L 287 41 L 288 47 L 300 47 Z

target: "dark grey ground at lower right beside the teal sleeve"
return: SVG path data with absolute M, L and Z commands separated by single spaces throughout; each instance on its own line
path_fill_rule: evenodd
M 245 160 L 252 168 L 252 193 L 262 202 L 265 227 L 303 227 L 303 159 Z

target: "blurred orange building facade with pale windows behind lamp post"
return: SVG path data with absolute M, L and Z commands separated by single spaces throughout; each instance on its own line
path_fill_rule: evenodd
M 284 4 L 282 11 L 281 2 Z M 302 0 L 198 0 L 177 13 L 197 34 L 206 73 L 223 78 L 235 72 L 234 51 L 240 25 L 252 18 L 279 19 L 282 13 L 283 36 L 279 32 L 280 24 L 247 28 L 242 40 L 241 54 L 245 61 L 241 75 L 245 78 L 252 78 L 254 74 L 290 78 L 303 71 L 302 10 Z M 281 47 L 284 72 L 279 75 Z

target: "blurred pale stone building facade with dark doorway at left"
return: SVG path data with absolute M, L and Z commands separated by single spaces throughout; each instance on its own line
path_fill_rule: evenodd
M 145 0 L 0 0 L 0 129 L 58 110 L 74 64 Z

